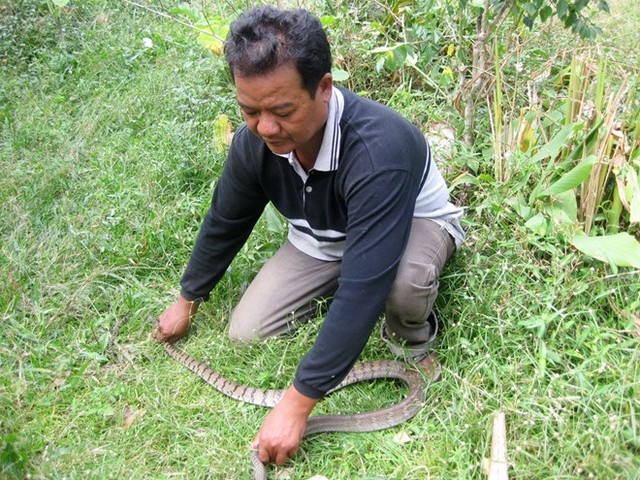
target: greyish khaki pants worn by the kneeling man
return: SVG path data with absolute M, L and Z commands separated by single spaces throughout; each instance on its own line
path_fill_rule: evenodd
M 405 253 L 386 301 L 390 335 L 412 343 L 428 341 L 427 321 L 438 295 L 439 277 L 455 251 L 453 238 L 430 220 L 414 218 Z M 254 340 L 291 331 L 316 315 L 316 299 L 338 287 L 341 262 L 310 257 L 288 241 L 262 267 L 240 299 L 229 336 Z

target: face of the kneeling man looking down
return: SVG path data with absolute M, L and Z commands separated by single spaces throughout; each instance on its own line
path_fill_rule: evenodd
M 236 94 L 249 129 L 274 153 L 293 150 L 307 158 L 317 155 L 331 99 L 331 75 L 326 74 L 311 98 L 292 65 L 265 75 L 235 76 Z

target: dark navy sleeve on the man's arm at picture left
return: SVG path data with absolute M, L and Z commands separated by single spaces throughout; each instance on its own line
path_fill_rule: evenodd
M 257 153 L 243 147 L 248 134 L 239 130 L 234 137 L 182 276 L 181 294 L 189 301 L 209 298 L 267 204 L 257 174 Z

